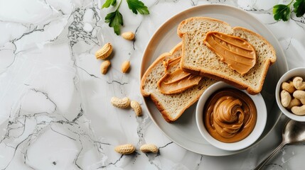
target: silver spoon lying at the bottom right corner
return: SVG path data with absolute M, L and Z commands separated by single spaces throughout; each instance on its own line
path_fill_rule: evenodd
M 273 152 L 262 161 L 254 170 L 262 169 L 264 164 L 266 164 L 272 157 L 274 157 L 277 152 L 287 144 L 296 144 L 299 142 L 305 142 L 305 122 L 297 122 L 295 120 L 288 120 L 284 125 L 282 132 L 282 143 L 273 150 Z

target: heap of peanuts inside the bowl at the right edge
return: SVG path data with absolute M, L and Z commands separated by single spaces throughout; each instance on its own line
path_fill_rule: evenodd
M 296 115 L 305 115 L 305 81 L 301 77 L 283 82 L 281 86 L 281 103 Z

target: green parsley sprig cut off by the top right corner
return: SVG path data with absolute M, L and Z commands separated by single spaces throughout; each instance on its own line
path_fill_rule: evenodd
M 276 21 L 288 21 L 292 12 L 296 13 L 296 17 L 301 17 L 305 13 L 305 0 L 296 0 L 293 4 L 294 10 L 291 11 L 291 4 L 294 0 L 291 0 L 289 4 L 277 4 L 273 6 L 274 19 Z

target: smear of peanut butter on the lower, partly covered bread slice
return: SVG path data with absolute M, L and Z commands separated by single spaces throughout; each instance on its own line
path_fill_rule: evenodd
M 181 57 L 164 61 L 164 76 L 159 79 L 157 86 L 162 94 L 177 94 L 199 83 L 201 77 L 183 72 L 179 67 Z M 173 72 L 170 69 L 175 68 Z

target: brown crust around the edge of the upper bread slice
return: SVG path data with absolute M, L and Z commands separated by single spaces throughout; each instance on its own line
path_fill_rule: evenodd
M 181 68 L 185 71 L 185 72 L 191 72 L 192 74 L 198 74 L 200 76 L 203 77 L 210 77 L 212 79 L 218 79 L 220 81 L 225 81 L 228 84 L 231 84 L 232 86 L 236 86 L 239 89 L 245 89 L 247 90 L 247 92 L 249 94 L 259 94 L 260 91 L 262 91 L 262 86 L 264 84 L 264 79 L 267 75 L 267 71 L 269 69 L 269 66 L 272 65 L 275 61 L 276 61 L 276 52 L 274 50 L 274 48 L 272 47 L 272 45 L 266 40 L 264 39 L 261 35 L 253 32 L 252 30 L 248 30 L 247 28 L 242 28 L 242 27 L 235 27 L 235 28 L 231 28 L 232 30 L 232 34 L 237 33 L 237 31 L 243 31 L 245 33 L 249 33 L 250 35 L 256 36 L 257 38 L 259 38 L 259 40 L 264 41 L 264 43 L 269 47 L 269 50 L 272 53 L 272 57 L 269 57 L 267 60 L 264 60 L 263 64 L 261 67 L 259 67 L 260 70 L 262 70 L 259 79 L 257 80 L 257 87 L 254 88 L 254 86 L 250 86 L 249 84 L 246 84 L 246 81 L 240 81 L 235 79 L 235 77 L 230 77 L 226 74 L 222 74 L 221 72 L 216 72 L 215 70 L 210 70 L 210 69 L 205 69 L 205 68 L 201 68 L 201 67 L 195 67 L 193 65 L 190 64 L 185 64 L 186 63 L 186 57 L 184 57 L 184 55 L 186 54 L 186 43 L 187 42 L 187 38 L 189 38 L 191 36 L 191 33 L 188 32 L 183 32 L 182 29 L 186 29 L 183 28 L 183 25 L 187 24 L 188 22 L 191 21 L 213 21 L 213 22 L 218 22 L 219 24 L 224 24 L 224 27 L 226 26 L 230 26 L 228 25 L 228 23 L 225 23 L 224 21 L 220 21 L 217 19 L 213 19 L 213 18 L 208 18 L 208 17 L 192 17 L 192 18 L 188 18 L 184 21 L 182 21 L 177 29 L 177 34 L 182 38 L 182 57 L 181 57 L 181 63 L 180 66 Z M 213 52 L 214 53 L 214 52 Z M 217 55 L 215 55 L 217 56 Z M 258 56 L 260 57 L 260 56 Z M 220 60 L 216 59 L 215 62 L 220 62 Z M 193 67 L 192 67 L 193 66 Z M 228 67 L 228 65 L 225 65 L 224 67 Z M 228 67 L 228 69 L 230 69 L 230 67 Z M 235 72 L 235 71 L 232 71 Z M 255 72 L 255 70 L 252 72 Z M 237 72 L 235 73 L 236 75 L 238 74 Z M 243 77 L 242 77 L 243 78 Z M 246 79 L 246 78 L 245 78 Z M 245 82 L 245 83 L 244 83 Z

